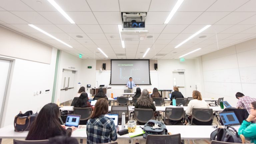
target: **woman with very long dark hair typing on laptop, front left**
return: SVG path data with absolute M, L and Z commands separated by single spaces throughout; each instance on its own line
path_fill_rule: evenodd
M 59 122 L 60 110 L 57 104 L 48 103 L 38 113 L 35 121 L 32 123 L 26 140 L 46 140 L 55 136 L 71 136 L 72 126 L 65 129 L 65 126 Z

